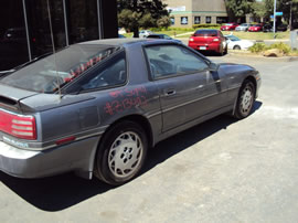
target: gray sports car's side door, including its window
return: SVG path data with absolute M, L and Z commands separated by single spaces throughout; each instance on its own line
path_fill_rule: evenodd
M 163 131 L 220 106 L 214 103 L 225 91 L 219 73 L 210 72 L 209 64 L 196 53 L 175 44 L 151 45 L 145 52 L 150 77 L 159 89 Z

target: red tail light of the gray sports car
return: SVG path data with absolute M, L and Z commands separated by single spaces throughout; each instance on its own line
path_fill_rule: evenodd
M 0 110 L 0 130 L 22 139 L 36 139 L 34 116 L 21 116 Z

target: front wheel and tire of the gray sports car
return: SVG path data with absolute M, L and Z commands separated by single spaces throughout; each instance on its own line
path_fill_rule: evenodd
M 244 81 L 237 97 L 234 117 L 237 119 L 246 118 L 253 109 L 255 103 L 255 85 L 253 82 Z

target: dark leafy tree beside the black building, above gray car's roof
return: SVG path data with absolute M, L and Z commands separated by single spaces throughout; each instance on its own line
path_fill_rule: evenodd
M 158 26 L 164 24 L 164 17 L 169 17 L 166 4 L 161 0 L 117 0 L 118 24 L 139 36 L 139 28 Z M 166 22 L 167 23 L 167 22 Z

